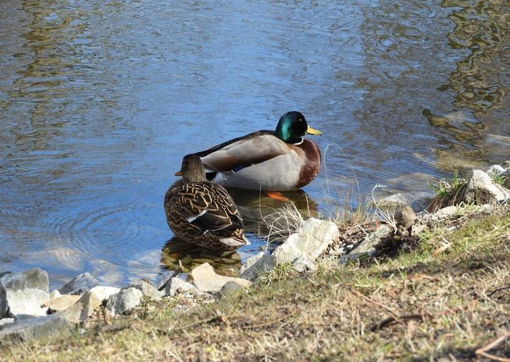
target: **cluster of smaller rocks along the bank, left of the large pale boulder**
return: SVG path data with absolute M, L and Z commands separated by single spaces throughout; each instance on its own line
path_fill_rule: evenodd
M 128 313 L 143 298 L 160 300 L 183 298 L 212 299 L 225 284 L 242 288 L 251 282 L 215 273 L 205 263 L 186 274 L 166 272 L 154 282 L 132 281 L 123 288 L 101 286 L 89 273 L 79 274 L 60 290 L 49 292 L 46 271 L 35 268 L 0 274 L 0 344 L 46 337 L 70 329 L 94 314 L 103 305 L 109 316 Z M 191 283 L 185 279 L 191 279 Z

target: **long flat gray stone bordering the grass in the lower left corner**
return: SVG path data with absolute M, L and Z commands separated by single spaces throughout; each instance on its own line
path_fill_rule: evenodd
M 0 326 L 0 345 L 50 337 L 52 334 L 69 329 L 69 322 L 60 315 L 21 318 Z

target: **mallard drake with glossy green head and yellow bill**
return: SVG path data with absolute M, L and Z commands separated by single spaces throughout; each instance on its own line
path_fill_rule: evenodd
M 308 126 L 300 112 L 287 112 L 274 131 L 246 134 L 193 155 L 200 157 L 207 179 L 225 187 L 299 189 L 308 185 L 320 168 L 319 147 L 303 139 L 305 134 L 321 132 Z

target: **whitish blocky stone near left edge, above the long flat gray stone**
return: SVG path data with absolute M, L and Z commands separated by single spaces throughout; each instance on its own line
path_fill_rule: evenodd
M 40 289 L 6 289 L 8 305 L 14 315 L 46 315 L 50 294 Z M 42 306 L 42 308 L 41 308 Z

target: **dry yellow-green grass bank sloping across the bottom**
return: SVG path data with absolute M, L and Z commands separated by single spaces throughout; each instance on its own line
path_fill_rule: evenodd
M 510 358 L 510 216 L 427 230 L 411 252 L 315 274 L 281 266 L 185 312 L 145 303 L 105 326 L 0 351 L 5 361 L 471 361 Z

